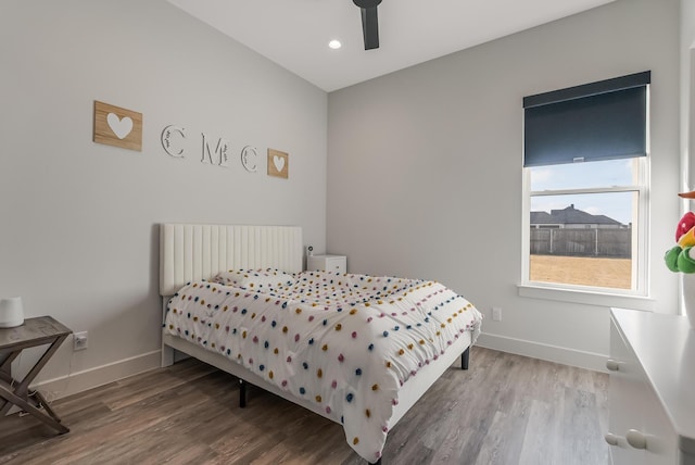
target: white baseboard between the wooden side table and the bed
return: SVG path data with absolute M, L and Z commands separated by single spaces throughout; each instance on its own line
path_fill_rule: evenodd
M 51 402 L 162 366 L 160 350 L 31 385 Z

